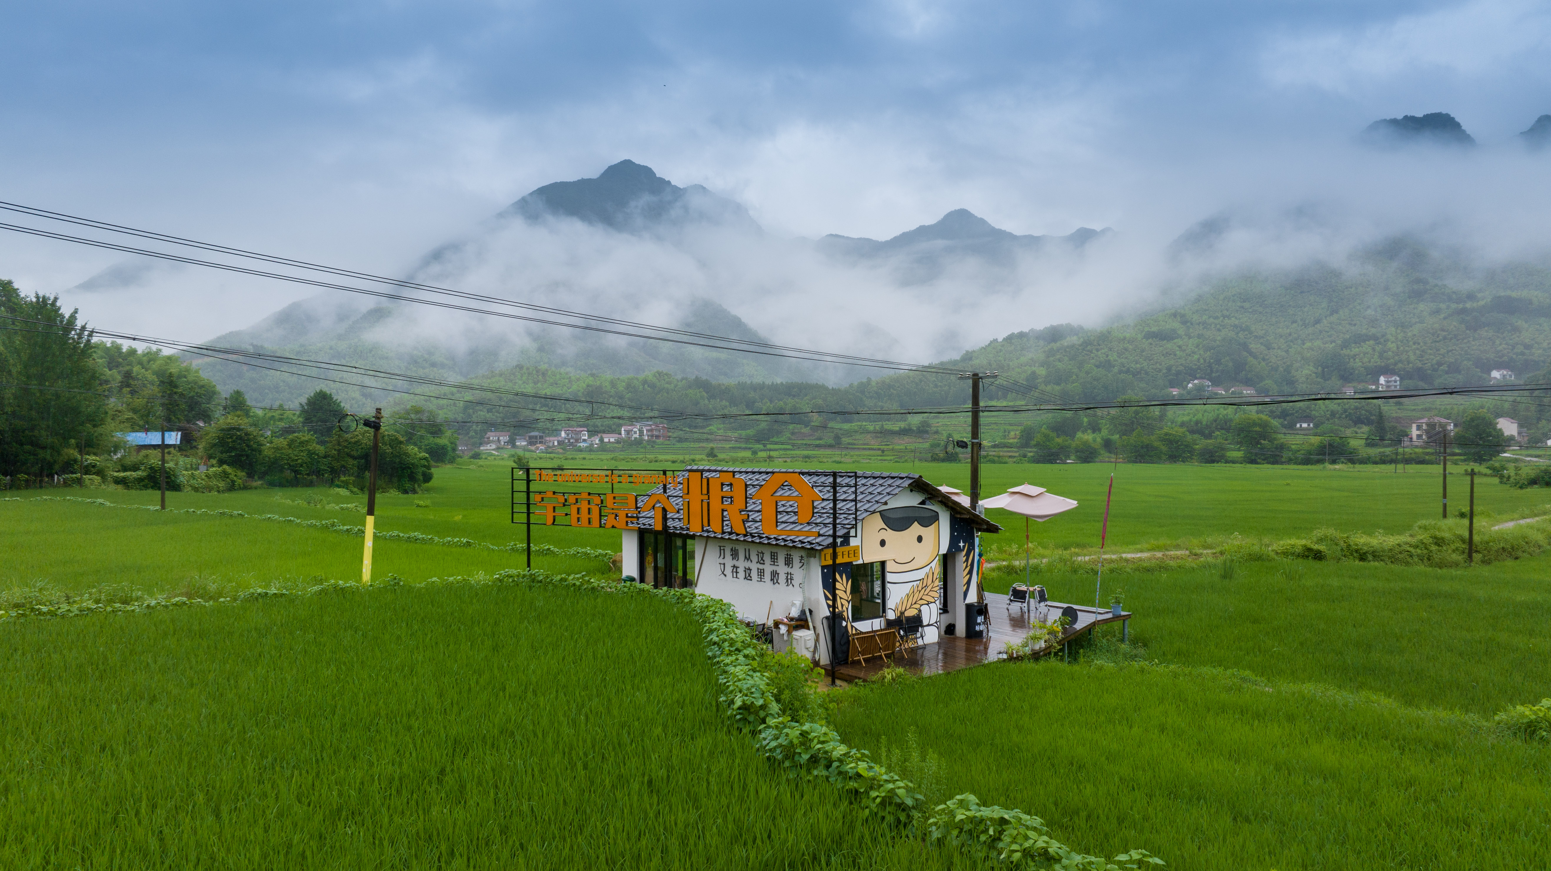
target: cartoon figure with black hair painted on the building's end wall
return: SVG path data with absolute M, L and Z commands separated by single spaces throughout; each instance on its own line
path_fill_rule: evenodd
M 937 642 L 943 519 L 931 504 L 901 505 L 867 515 L 859 528 L 861 563 L 884 566 L 884 617 L 912 623 L 920 617 L 923 645 Z

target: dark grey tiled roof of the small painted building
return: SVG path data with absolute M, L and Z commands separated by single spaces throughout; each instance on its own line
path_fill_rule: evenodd
M 914 487 L 923 497 L 932 499 L 934 502 L 946 507 L 955 518 L 969 521 L 971 525 L 980 532 L 1002 532 L 1002 527 L 993 524 L 991 521 L 969 511 L 968 507 L 960 505 L 949 494 L 932 487 L 926 479 L 918 474 L 900 473 L 900 471 L 831 471 L 831 470 L 793 470 L 793 468 L 727 468 L 727 466 L 684 466 L 684 471 L 701 471 L 701 473 L 723 473 L 731 471 L 732 474 L 741 477 L 749 488 L 749 493 L 757 490 L 769 476 L 776 473 L 797 473 L 800 474 L 819 496 L 824 499 L 813 507 L 813 519 L 805 524 L 797 522 L 797 505 L 796 502 L 779 502 L 780 511 L 780 528 L 785 530 L 811 530 L 817 535 L 811 536 L 782 536 L 782 535 L 765 535 L 760 532 L 760 510 L 762 505 L 757 499 L 749 499 L 748 504 L 748 521 L 744 521 L 746 535 L 738 535 L 732 532 L 696 532 L 693 535 L 704 535 L 710 538 L 727 538 L 734 541 L 752 541 L 755 544 L 774 544 L 785 547 L 830 547 L 831 546 L 831 524 L 839 530 L 839 538 L 845 538 L 851 527 L 867 515 L 881 508 L 889 499 L 893 499 L 900 491 Z M 834 497 L 831 497 L 831 484 L 834 487 Z M 658 487 L 651 493 L 667 493 L 670 497 L 681 497 L 682 493 L 678 484 Z M 838 513 L 836 513 L 838 510 Z M 651 528 L 653 518 L 650 513 L 642 513 L 637 518 L 637 528 Z M 676 515 L 667 515 L 662 522 L 667 532 L 675 532 L 679 535 L 690 535 L 689 527 L 684 525 L 684 519 Z M 838 544 L 844 544 L 838 542 Z

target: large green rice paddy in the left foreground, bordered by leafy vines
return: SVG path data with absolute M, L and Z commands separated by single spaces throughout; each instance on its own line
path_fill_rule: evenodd
M 0 866 L 932 866 L 727 727 L 687 614 L 624 603 L 400 587 L 8 625 Z

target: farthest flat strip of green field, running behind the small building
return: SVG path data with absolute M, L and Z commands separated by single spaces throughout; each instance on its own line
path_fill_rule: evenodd
M 619 457 L 580 460 L 602 465 Z M 631 460 L 634 463 L 637 460 Z M 765 457 L 723 457 L 717 462 L 762 465 Z M 869 468 L 910 471 L 934 484 L 969 488 L 968 463 L 881 465 L 807 463 L 805 468 Z M 510 470 L 506 460 L 476 460 L 468 465 L 440 466 L 428 491 L 419 496 L 378 499 L 377 527 L 420 532 L 436 536 L 462 536 L 490 542 L 521 541 L 523 527 L 510 522 Z M 1109 546 L 1120 550 L 1171 549 L 1188 541 L 1242 535 L 1250 538 L 1294 538 L 1312 528 L 1342 532 L 1404 532 L 1424 519 L 1441 515 L 1441 474 L 1438 466 L 1410 466 L 1393 474 L 1385 466 L 1247 466 L 1247 465 L 986 465 L 982 468 L 982 494 L 993 496 L 1019 484 L 1045 487 L 1076 499 L 1079 505 L 1048 522 L 1033 524 L 1033 539 L 1041 547 L 1097 547 L 1104 515 L 1109 474 L 1115 473 L 1115 496 L 1109 519 Z M 1450 476 L 1450 505 L 1466 504 L 1467 479 Z M 95 497 L 150 505 L 154 491 L 88 491 Z M 171 493 L 168 505 L 212 508 L 230 507 L 253 513 L 290 515 L 309 519 L 349 519 L 351 513 L 309 508 L 298 501 L 323 496 L 329 502 L 363 504 L 360 496 L 340 496 L 330 490 L 265 488 L 239 493 Z M 417 508 L 416 502 L 430 507 Z M 1481 521 L 1494 515 L 1517 515 L 1551 504 L 1551 493 L 1531 488 L 1512 490 L 1489 476 L 1477 479 L 1477 511 Z M 1546 507 L 1551 513 L 1551 507 Z M 997 550 L 1021 550 L 1024 519 L 991 510 L 988 516 L 1005 527 L 1002 536 L 986 539 Z M 352 522 L 360 522 L 360 515 Z M 599 530 L 571 532 L 538 527 L 535 541 L 565 547 L 617 547 L 617 536 Z M 605 542 L 606 541 L 606 542 Z

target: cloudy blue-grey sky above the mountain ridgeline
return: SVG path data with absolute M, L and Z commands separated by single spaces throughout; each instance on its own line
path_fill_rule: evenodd
M 389 273 L 620 158 L 786 236 L 963 206 L 1166 240 L 1371 178 L 1332 155 L 1376 118 L 1452 112 L 1489 152 L 1551 112 L 1551 8 L 1522 2 L 57 0 L 0 33 L 0 200 Z M 1422 186 L 1546 192 L 1522 174 Z M 0 234 L 31 290 L 112 260 Z M 299 294 L 231 287 L 180 333 Z

